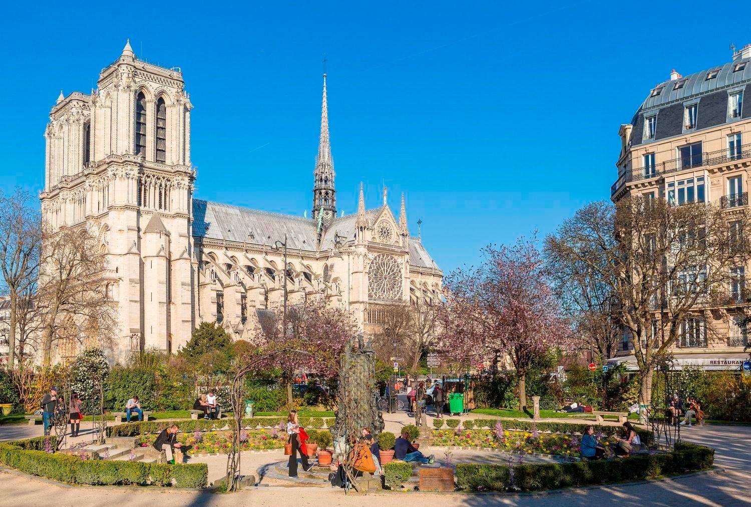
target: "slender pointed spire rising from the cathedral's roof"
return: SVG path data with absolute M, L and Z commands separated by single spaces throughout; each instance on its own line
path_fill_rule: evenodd
M 321 137 L 318 139 L 318 156 L 315 158 L 313 171 L 313 213 L 314 220 L 323 210 L 324 223 L 336 217 L 336 190 L 333 185 L 333 157 L 328 130 L 328 101 L 326 95 L 326 74 L 324 73 L 324 92 L 321 101 Z

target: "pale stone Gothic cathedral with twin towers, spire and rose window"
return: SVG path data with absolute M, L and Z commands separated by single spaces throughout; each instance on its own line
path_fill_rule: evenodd
M 366 210 L 360 186 L 357 213 L 336 213 L 325 74 L 309 217 L 196 198 L 192 108 L 179 69 L 142 62 L 125 44 L 96 89 L 61 92 L 50 112 L 42 216 L 53 230 L 85 225 L 98 237 L 118 315 L 114 359 L 176 352 L 201 321 L 250 338 L 285 285 L 288 304 L 319 294 L 366 333 L 379 305 L 437 300 L 442 271 L 410 236 L 404 196 L 398 216 L 385 191 Z

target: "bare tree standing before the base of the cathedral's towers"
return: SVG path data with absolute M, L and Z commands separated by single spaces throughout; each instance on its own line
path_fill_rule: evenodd
M 44 231 L 41 252 L 37 302 L 44 366 L 50 365 L 53 342 L 63 336 L 111 346 L 116 318 L 103 279 L 106 259 L 87 226 Z

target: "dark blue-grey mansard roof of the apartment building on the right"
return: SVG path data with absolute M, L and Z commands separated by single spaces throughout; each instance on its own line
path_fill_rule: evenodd
M 745 63 L 743 70 L 734 71 L 736 65 Z M 710 71 L 719 71 L 713 79 L 707 80 Z M 683 83 L 675 89 L 677 83 Z M 707 68 L 704 71 L 663 81 L 650 90 L 647 98 L 635 113 L 631 143 L 637 146 L 653 143 L 657 140 L 685 134 L 683 129 L 683 108 L 686 103 L 698 103 L 696 128 L 713 128 L 725 123 L 737 122 L 751 117 L 751 58 L 735 59 L 724 65 Z M 659 95 L 652 96 L 653 91 L 662 87 Z M 728 117 L 728 94 L 743 91 L 743 115 L 740 118 Z M 644 139 L 644 117 L 657 115 L 656 133 L 653 139 Z

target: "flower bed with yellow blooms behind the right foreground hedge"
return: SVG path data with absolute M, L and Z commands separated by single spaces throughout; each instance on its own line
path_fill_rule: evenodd
M 526 431 L 502 431 L 502 438 L 496 438 L 491 430 L 433 430 L 432 445 L 455 447 L 484 447 L 502 451 L 553 454 L 556 456 L 578 457 L 579 442 L 575 438 L 560 433 L 533 433 Z

